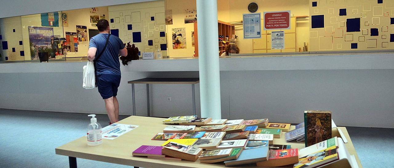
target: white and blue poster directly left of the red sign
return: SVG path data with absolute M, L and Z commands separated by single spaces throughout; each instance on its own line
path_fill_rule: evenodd
M 261 13 L 243 14 L 243 38 L 261 38 Z

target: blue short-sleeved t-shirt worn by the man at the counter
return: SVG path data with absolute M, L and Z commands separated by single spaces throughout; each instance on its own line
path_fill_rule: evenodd
M 89 42 L 90 47 L 96 47 L 96 58 L 104 49 L 105 42 L 107 41 L 108 34 L 100 33 L 92 37 Z M 96 60 L 97 75 L 111 74 L 121 75 L 119 50 L 125 48 L 122 40 L 114 35 L 110 36 L 107 48 L 102 53 L 101 57 Z

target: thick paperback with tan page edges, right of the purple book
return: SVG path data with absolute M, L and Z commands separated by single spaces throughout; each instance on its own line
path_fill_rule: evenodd
M 164 155 L 188 161 L 196 161 L 201 153 L 203 153 L 203 149 L 201 148 L 178 144 L 175 142 L 166 144 L 162 149 L 162 154 Z

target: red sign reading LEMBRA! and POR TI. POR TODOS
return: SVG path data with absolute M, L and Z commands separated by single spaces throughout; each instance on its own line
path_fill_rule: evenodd
M 264 30 L 290 29 L 290 11 L 264 12 Z

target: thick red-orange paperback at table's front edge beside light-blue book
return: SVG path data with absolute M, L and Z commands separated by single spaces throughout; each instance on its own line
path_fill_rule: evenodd
M 268 161 L 257 162 L 258 167 L 277 167 L 298 163 L 298 149 L 270 150 Z

